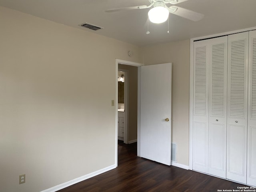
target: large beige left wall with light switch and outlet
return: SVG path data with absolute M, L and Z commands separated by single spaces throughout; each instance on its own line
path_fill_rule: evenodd
M 0 191 L 114 165 L 115 59 L 142 62 L 140 48 L 3 7 L 0 26 Z

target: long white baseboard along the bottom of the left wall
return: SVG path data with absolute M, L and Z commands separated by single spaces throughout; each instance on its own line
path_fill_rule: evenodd
M 94 177 L 94 176 L 97 176 L 97 175 L 102 174 L 102 173 L 104 173 L 104 172 L 107 172 L 107 171 L 109 171 L 109 170 L 112 170 L 112 169 L 114 169 L 114 168 L 116 168 L 116 165 L 111 165 L 111 166 L 108 166 L 108 167 L 106 167 L 106 168 L 100 169 L 100 170 L 98 170 L 98 171 L 95 171 L 95 172 L 86 174 L 86 175 L 84 175 L 84 176 L 81 176 L 81 177 L 78 177 L 78 178 L 76 178 L 76 179 L 70 180 L 70 181 L 68 181 L 68 182 L 62 183 L 62 184 L 60 184 L 60 185 L 54 186 L 54 187 L 52 187 L 52 188 L 43 190 L 43 191 L 41 191 L 41 192 L 56 192 L 56 191 L 58 191 L 58 190 L 61 190 L 61 189 L 66 188 L 66 187 L 68 187 L 68 186 L 74 185 L 74 184 L 79 183 L 79 182 L 81 182 L 81 181 L 84 181 L 84 180 L 86 180 L 86 179 L 92 178 L 92 177 Z

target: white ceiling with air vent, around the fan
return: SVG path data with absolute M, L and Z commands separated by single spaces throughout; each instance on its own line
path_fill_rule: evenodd
M 80 28 L 137 45 L 172 42 L 256 26 L 256 0 L 188 0 L 176 4 L 204 14 L 198 22 L 170 14 L 168 22 L 149 23 L 149 9 L 105 10 L 149 5 L 148 0 L 0 0 L 0 6 L 19 10 L 40 18 Z M 167 4 L 171 5 L 171 4 Z M 90 23 L 104 29 L 93 31 L 80 24 Z

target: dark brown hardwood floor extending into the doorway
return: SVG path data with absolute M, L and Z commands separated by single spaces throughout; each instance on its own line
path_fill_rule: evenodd
M 137 143 L 118 142 L 118 167 L 58 192 L 217 192 L 237 184 L 137 157 Z

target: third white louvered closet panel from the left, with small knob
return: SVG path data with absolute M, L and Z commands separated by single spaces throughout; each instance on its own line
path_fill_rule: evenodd
M 246 183 L 248 32 L 228 36 L 227 178 Z

